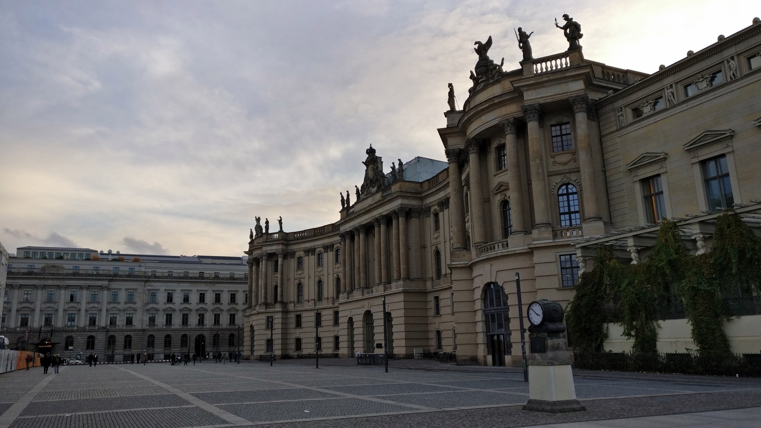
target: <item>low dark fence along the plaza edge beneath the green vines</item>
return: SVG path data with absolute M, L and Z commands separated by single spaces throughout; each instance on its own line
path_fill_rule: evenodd
M 761 377 L 761 353 L 583 353 L 575 369 Z

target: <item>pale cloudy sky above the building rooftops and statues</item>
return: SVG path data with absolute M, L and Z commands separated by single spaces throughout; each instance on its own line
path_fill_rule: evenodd
M 443 159 L 474 40 L 505 69 L 581 23 L 584 56 L 654 72 L 756 1 L 0 2 L 0 242 L 240 255 L 254 216 L 334 222 L 372 143 Z M 389 162 L 390 163 L 390 162 Z M 352 192 L 353 194 L 353 192 Z

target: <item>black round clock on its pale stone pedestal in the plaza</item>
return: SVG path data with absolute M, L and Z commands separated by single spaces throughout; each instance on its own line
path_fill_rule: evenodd
M 550 302 L 544 304 L 549 308 Z M 552 302 L 557 305 L 556 302 Z M 559 306 L 559 305 L 558 305 Z M 540 412 L 572 412 L 587 410 L 576 399 L 576 388 L 568 359 L 568 341 L 562 324 L 562 308 L 559 315 L 547 316 L 539 325 L 531 325 L 531 353 L 527 357 L 529 401 L 524 410 Z M 549 319 L 548 319 L 549 318 Z

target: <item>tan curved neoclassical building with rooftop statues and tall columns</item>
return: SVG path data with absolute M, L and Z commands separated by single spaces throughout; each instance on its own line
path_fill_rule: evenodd
M 438 129 L 446 162 L 391 170 L 380 156 L 393 154 L 370 147 L 337 222 L 252 236 L 247 354 L 382 353 L 385 322 L 400 356 L 519 365 L 516 274 L 524 309 L 565 305 L 596 245 L 638 260 L 669 217 L 706 251 L 718 212 L 761 211 L 757 19 L 651 75 L 581 49 L 505 72 L 491 38 L 478 44 L 470 96 Z M 761 305 L 740 298 L 731 344 L 757 352 Z M 683 352 L 689 327 L 674 321 L 658 346 Z M 616 334 L 609 349 L 630 347 Z

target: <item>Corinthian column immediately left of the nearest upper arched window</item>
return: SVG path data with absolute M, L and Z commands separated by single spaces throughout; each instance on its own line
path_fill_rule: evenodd
M 529 104 L 521 107 L 528 123 L 528 149 L 531 163 L 531 190 L 533 190 L 533 211 L 537 222 L 533 228 L 540 229 L 540 239 L 552 238 L 549 228 L 549 198 L 547 197 L 547 174 L 544 167 L 544 145 L 539 130 L 539 117 L 542 108 L 539 104 Z

